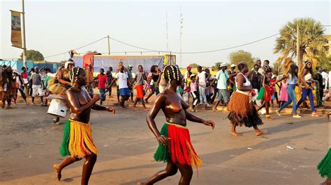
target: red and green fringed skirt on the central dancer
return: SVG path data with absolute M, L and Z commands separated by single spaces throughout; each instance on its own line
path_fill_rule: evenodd
M 189 129 L 186 127 L 166 122 L 162 129 L 161 135 L 170 138 L 169 145 L 159 145 L 154 159 L 155 161 L 179 163 L 188 166 L 200 166 L 202 161 L 194 150 Z

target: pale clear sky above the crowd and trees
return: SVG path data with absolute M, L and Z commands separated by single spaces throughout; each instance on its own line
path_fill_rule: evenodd
M 0 0 L 0 58 L 18 58 L 11 47 L 10 11 L 22 10 L 21 1 Z M 205 51 L 242 45 L 279 32 L 296 17 L 312 17 L 330 25 L 330 1 L 29 1 L 25 0 L 27 49 L 44 56 L 59 54 L 110 35 L 131 45 L 167 50 L 165 12 L 168 11 L 169 50 L 179 51 L 179 11 L 184 28 L 182 51 Z M 331 27 L 327 33 L 330 35 Z M 262 60 L 276 61 L 274 38 L 207 54 L 182 54 L 182 66 L 212 66 L 228 62 L 231 51 L 243 49 Z M 107 40 L 79 49 L 107 52 Z M 143 51 L 113 40 L 111 51 Z M 68 54 L 46 58 L 68 59 Z M 177 63 L 179 54 L 177 54 Z

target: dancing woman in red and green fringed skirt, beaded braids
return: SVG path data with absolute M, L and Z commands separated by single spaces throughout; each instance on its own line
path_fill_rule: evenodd
M 182 175 L 179 184 L 189 184 L 193 175 L 192 166 L 198 168 L 201 160 L 191 144 L 189 129 L 186 128 L 186 119 L 203 123 L 213 129 L 215 127 L 214 122 L 197 118 L 186 111 L 189 105 L 176 93 L 177 86 L 182 83 L 181 76 L 182 74 L 175 65 L 165 67 L 164 78 L 170 86 L 156 97 L 152 109 L 147 115 L 148 127 L 159 142 L 154 159 L 155 161 L 167 162 L 167 167 L 142 184 L 154 184 L 165 177 L 175 175 L 177 170 Z M 167 122 L 160 132 L 156 128 L 154 118 L 161 109 Z

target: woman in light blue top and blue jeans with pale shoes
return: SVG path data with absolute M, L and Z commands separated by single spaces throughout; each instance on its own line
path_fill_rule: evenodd
M 290 65 L 290 71 L 288 74 L 284 74 L 284 77 L 277 80 L 275 83 L 279 81 L 283 81 L 286 79 L 286 83 L 288 84 L 286 88 L 286 92 L 288 94 L 288 100 L 285 104 L 283 104 L 277 111 L 277 115 L 281 116 L 281 110 L 288 106 L 290 103 L 292 104 L 292 114 L 293 118 L 301 118 L 300 115 L 297 114 L 297 99 L 295 98 L 295 86 L 297 86 L 297 72 L 299 71 L 299 67 L 297 65 Z M 283 88 L 283 87 L 281 87 Z M 283 92 L 283 90 L 282 90 Z

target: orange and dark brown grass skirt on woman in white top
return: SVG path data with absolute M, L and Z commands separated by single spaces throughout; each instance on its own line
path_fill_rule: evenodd
M 253 102 L 249 102 L 249 96 L 242 93 L 233 93 L 228 104 L 228 119 L 237 126 L 253 127 L 263 124 L 260 115 L 256 111 Z

